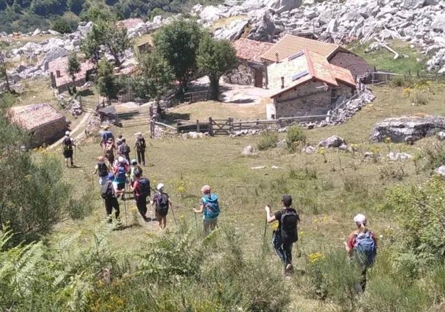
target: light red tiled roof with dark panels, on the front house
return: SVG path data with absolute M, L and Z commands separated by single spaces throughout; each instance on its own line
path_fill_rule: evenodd
M 324 56 L 309 51 L 309 49 L 304 49 L 300 53 L 300 56 L 291 60 L 269 65 L 269 81 L 274 81 L 271 86 L 276 91 L 271 97 L 286 93 L 292 88 L 313 79 L 330 86 L 338 86 L 339 82 L 348 86 L 355 86 L 354 78 L 348 69 L 329 64 Z M 292 80 L 292 76 L 298 73 L 305 74 Z M 278 88 L 278 83 L 281 84 L 280 77 L 285 77 L 285 88 Z

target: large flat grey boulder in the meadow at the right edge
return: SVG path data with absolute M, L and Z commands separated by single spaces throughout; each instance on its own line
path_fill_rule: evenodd
M 445 117 L 442 116 L 387 118 L 374 124 L 370 140 L 383 142 L 389 137 L 394 143 L 402 143 L 408 137 L 416 141 L 443 130 L 445 130 Z

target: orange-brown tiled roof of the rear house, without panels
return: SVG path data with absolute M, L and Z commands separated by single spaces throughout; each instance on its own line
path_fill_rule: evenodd
M 325 58 L 329 58 L 338 50 L 348 51 L 333 43 L 324 43 L 318 40 L 286 34 L 274 45 L 274 47 L 263 53 L 261 58 L 276 62 L 276 53 L 278 53 L 278 61 L 281 61 L 285 58 L 289 58 L 289 56 L 292 56 L 298 51 L 302 51 L 302 49 L 309 49 L 309 51 L 317 52 Z

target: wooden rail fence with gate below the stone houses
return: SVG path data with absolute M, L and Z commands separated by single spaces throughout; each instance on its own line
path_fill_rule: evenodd
M 299 117 L 285 117 L 272 120 L 237 120 L 213 119 L 210 117 L 208 121 L 184 121 L 176 122 L 176 132 L 208 132 L 211 136 L 229 135 L 235 131 L 242 130 L 278 130 L 292 123 L 307 123 L 311 121 L 320 121 L 326 119 L 328 115 L 313 115 Z

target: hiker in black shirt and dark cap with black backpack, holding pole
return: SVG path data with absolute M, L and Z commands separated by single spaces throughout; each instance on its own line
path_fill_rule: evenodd
M 297 225 L 300 217 L 296 210 L 291 208 L 291 195 L 282 195 L 281 204 L 282 208 L 274 214 L 271 213 L 269 205 L 265 206 L 266 221 L 267 223 L 278 221 L 278 228 L 272 233 L 272 244 L 284 265 L 285 276 L 289 276 L 293 271 L 292 245 L 298 241 Z

